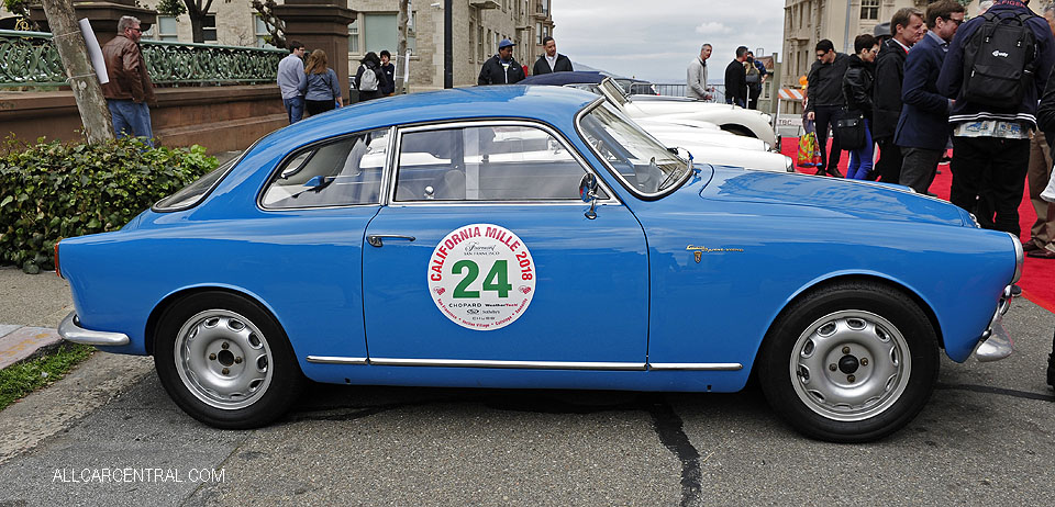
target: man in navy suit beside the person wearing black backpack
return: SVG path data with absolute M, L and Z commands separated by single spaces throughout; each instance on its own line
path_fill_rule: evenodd
M 937 76 L 948 43 L 964 22 L 964 7 L 941 0 L 926 8 L 926 35 L 904 59 L 901 117 L 893 143 L 901 147 L 901 184 L 926 193 L 948 143 L 948 112 L 953 100 L 937 92 Z

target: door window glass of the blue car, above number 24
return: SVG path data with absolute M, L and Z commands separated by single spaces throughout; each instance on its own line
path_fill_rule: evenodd
M 398 165 L 403 202 L 579 200 L 586 173 L 545 131 L 512 125 L 403 134 Z

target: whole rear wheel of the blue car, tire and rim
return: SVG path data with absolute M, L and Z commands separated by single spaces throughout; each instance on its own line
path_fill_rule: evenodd
M 223 429 L 274 421 L 304 385 L 275 318 L 255 302 L 221 291 L 191 294 L 166 308 L 155 333 L 154 365 L 176 405 Z

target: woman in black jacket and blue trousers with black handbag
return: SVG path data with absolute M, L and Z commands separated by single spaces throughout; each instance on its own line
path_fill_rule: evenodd
M 879 42 L 864 34 L 854 40 L 856 54 L 849 57 L 843 76 L 843 100 L 846 110 L 865 119 L 865 146 L 849 151 L 846 178 L 864 180 L 871 171 L 876 147 L 871 142 L 871 86 L 876 75 L 876 54 Z

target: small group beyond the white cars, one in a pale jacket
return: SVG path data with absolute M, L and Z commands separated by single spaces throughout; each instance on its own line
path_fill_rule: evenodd
M 713 47 L 704 44 L 700 47 L 700 55 L 689 61 L 685 78 L 685 97 L 696 100 L 714 100 L 714 87 L 707 83 L 707 60 L 710 59 Z M 741 108 L 758 109 L 758 97 L 762 86 L 770 71 L 755 59 L 754 53 L 747 46 L 736 48 L 736 57 L 725 66 L 725 103 Z

